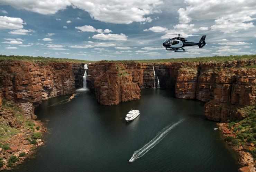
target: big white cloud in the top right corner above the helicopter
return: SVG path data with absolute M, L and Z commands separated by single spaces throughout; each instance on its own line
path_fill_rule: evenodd
M 248 0 L 246 3 L 240 0 L 233 0 L 232 2 L 222 0 L 185 0 L 185 4 L 188 5 L 186 8 L 178 10 L 180 23 L 190 23 L 192 20 L 215 19 L 215 24 L 211 26 L 211 29 L 224 33 L 232 33 L 254 27 L 252 22 L 245 22 L 255 20 L 251 18 L 256 14 L 255 0 Z

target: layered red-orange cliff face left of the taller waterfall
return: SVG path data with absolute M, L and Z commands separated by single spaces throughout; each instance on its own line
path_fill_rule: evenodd
M 35 119 L 34 108 L 42 100 L 71 94 L 75 86 L 80 86 L 75 75 L 81 75 L 79 64 L 72 63 L 33 63 L 22 61 L 0 62 L 1 99 L 13 101 L 23 111 L 26 118 Z M 5 118 L 9 112 L 0 111 Z

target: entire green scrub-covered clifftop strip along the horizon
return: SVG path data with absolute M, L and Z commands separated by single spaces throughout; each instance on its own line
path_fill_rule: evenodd
M 71 62 L 71 63 L 91 63 L 94 61 L 77 60 L 71 58 L 53 58 L 53 57 L 33 57 L 33 56 L 15 56 L 15 55 L 0 55 L 0 60 L 17 60 L 28 62 Z M 117 60 L 117 61 L 98 61 L 98 62 L 137 62 L 137 63 L 166 63 L 166 62 L 225 62 L 236 60 L 256 60 L 256 55 L 230 55 L 230 56 L 212 56 L 212 57 L 195 57 L 195 58 L 169 58 L 169 59 L 154 59 L 154 60 Z

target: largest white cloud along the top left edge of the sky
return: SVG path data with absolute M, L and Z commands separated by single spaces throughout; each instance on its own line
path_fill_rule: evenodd
M 25 9 L 40 14 L 54 14 L 58 10 L 73 6 L 87 11 L 91 18 L 108 23 L 130 24 L 132 22 L 151 22 L 146 15 L 159 13 L 157 7 L 162 0 L 1 0 L 4 5 Z

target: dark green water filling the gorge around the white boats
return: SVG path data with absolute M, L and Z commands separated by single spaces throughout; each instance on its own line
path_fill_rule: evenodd
M 49 120 L 46 146 L 15 171 L 172 171 L 235 172 L 234 153 L 220 140 L 216 123 L 205 120 L 199 101 L 176 99 L 170 91 L 144 89 L 140 100 L 101 106 L 92 93 L 77 92 L 44 101 L 35 114 Z M 54 105 L 54 106 L 52 106 Z M 140 110 L 131 122 L 127 109 Z M 150 142 L 166 126 L 184 119 L 129 163 L 134 151 Z M 160 136 L 161 133 L 158 133 Z M 155 138 L 156 139 L 156 138 Z M 154 141 L 154 140 L 153 140 Z M 152 141 L 150 142 L 152 143 Z

